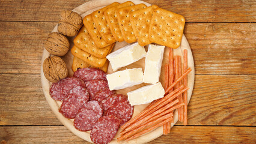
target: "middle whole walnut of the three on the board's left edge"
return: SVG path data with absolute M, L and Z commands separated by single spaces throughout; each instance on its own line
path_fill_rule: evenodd
M 69 40 L 58 32 L 49 34 L 44 43 L 45 49 L 52 55 L 64 56 L 69 51 Z

